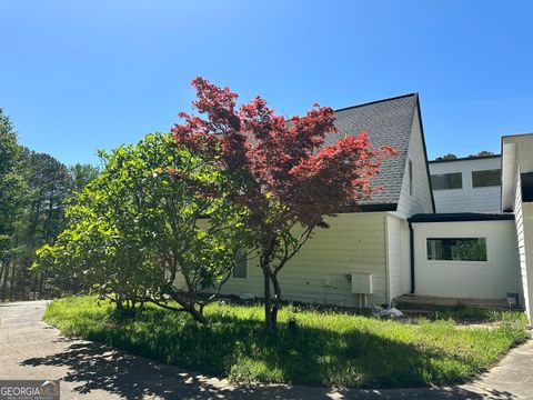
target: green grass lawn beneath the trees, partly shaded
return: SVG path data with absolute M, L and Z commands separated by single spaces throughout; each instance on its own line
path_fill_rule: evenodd
M 471 380 L 510 348 L 526 340 L 523 313 L 489 312 L 486 327 L 447 320 L 379 320 L 340 311 L 280 314 L 280 329 L 263 329 L 260 304 L 218 302 L 211 323 L 147 307 L 118 318 L 92 297 L 53 301 L 44 320 L 66 336 L 113 346 L 130 353 L 233 381 L 329 387 L 400 388 Z M 295 318 L 295 327 L 288 323 Z

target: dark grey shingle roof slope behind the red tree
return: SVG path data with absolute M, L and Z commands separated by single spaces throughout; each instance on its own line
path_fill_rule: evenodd
M 339 132 L 328 137 L 325 144 L 365 131 L 372 148 L 388 144 L 398 151 L 398 156 L 383 161 L 380 173 L 372 180 L 383 190 L 363 204 L 399 202 L 416 104 L 418 94 L 411 93 L 335 111 Z

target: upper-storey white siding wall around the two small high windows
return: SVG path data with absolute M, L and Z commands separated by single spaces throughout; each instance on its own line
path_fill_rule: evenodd
M 501 186 L 473 188 L 472 171 L 501 168 L 501 158 L 431 162 L 430 173 L 463 174 L 462 189 L 433 190 L 436 212 L 489 212 L 500 211 Z

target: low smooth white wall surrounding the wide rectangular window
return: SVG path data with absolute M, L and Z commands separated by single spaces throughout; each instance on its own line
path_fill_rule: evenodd
M 503 299 L 521 292 L 514 221 L 413 223 L 415 294 Z M 428 238 L 486 238 L 487 261 L 428 260 Z

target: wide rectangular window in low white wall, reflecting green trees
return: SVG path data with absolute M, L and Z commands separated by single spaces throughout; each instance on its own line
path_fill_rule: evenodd
M 428 260 L 486 261 L 486 239 L 428 239 Z

